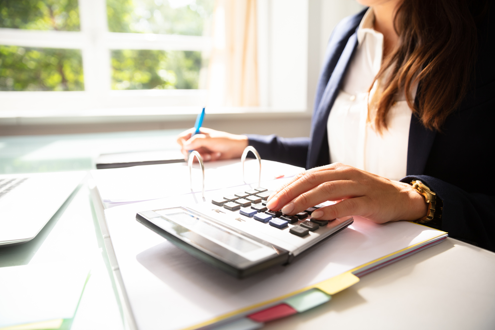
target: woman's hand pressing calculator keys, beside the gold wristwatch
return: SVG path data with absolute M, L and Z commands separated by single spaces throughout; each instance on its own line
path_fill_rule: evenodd
M 417 220 L 427 213 L 424 197 L 410 185 L 341 163 L 298 174 L 270 195 L 266 207 L 294 215 L 327 200 L 339 202 L 314 211 L 313 218 L 333 220 L 357 215 L 384 223 Z

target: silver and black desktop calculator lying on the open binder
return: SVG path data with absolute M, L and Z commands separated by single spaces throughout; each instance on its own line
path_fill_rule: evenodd
M 239 189 L 239 188 L 238 188 Z M 197 204 L 138 212 L 136 220 L 200 260 L 237 278 L 289 264 L 349 226 L 353 218 L 316 220 L 315 205 L 290 216 L 269 210 L 265 188 L 220 190 Z

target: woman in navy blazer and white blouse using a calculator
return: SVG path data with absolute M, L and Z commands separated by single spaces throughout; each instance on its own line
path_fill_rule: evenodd
M 309 139 L 189 130 L 183 152 L 227 159 L 253 145 L 305 167 L 272 210 L 340 200 L 312 216 L 418 221 L 495 250 L 494 1 L 359 2 L 370 7 L 330 38 Z

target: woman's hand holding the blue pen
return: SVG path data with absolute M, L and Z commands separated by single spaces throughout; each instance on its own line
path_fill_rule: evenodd
M 215 131 L 201 127 L 201 133 L 194 136 L 194 128 L 182 132 L 177 143 L 182 147 L 184 158 L 188 159 L 188 150 L 197 150 L 204 161 L 239 158 L 247 147 L 247 136 Z

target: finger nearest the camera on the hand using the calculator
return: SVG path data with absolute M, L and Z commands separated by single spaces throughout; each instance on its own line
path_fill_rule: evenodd
M 348 198 L 339 203 L 325 206 L 311 213 L 318 220 L 332 220 L 352 215 L 364 215 L 370 212 L 369 198 L 366 196 Z

